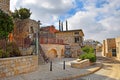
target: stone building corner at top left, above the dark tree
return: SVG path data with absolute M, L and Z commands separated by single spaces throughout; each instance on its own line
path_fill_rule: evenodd
M 0 0 L 0 9 L 9 14 L 10 0 Z

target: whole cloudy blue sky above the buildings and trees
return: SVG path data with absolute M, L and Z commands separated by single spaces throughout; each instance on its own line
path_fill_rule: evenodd
M 85 39 L 102 41 L 120 36 L 120 0 L 11 0 L 11 10 L 30 8 L 43 25 L 68 20 L 69 29 L 82 29 Z M 65 27 L 64 27 L 65 29 Z

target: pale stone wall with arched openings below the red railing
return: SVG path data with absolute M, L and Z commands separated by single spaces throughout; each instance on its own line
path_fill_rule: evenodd
M 64 57 L 65 46 L 59 44 L 41 44 L 41 47 L 49 59 Z

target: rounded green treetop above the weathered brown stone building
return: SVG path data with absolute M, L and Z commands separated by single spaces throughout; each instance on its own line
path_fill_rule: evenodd
M 27 8 L 20 8 L 19 10 L 15 9 L 15 11 L 12 13 L 13 18 L 19 18 L 19 19 L 28 19 L 31 16 L 30 9 Z

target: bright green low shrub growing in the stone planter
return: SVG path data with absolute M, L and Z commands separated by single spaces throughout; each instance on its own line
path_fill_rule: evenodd
M 96 62 L 96 56 L 94 53 L 84 53 L 84 54 L 80 55 L 79 58 L 82 60 L 89 59 L 90 62 Z

